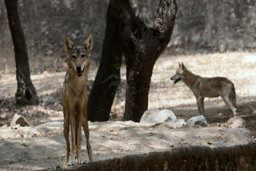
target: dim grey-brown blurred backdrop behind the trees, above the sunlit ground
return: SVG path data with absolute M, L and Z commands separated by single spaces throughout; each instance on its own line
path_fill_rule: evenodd
M 148 26 L 158 1 L 130 1 L 135 14 Z M 63 38 L 67 34 L 82 43 L 94 35 L 94 62 L 102 53 L 108 0 L 19 0 L 18 12 L 26 37 L 32 72 L 42 72 L 66 57 Z M 198 54 L 256 50 L 256 1 L 178 0 L 172 40 L 165 54 Z M 4 1 L 0 1 L 0 70 L 15 70 L 14 50 Z

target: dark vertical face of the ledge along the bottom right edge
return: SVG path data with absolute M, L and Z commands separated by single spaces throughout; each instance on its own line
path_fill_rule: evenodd
M 168 151 L 133 154 L 62 170 L 256 170 L 256 145 L 215 147 L 198 145 Z

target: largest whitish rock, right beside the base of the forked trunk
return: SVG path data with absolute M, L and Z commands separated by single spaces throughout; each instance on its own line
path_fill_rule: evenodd
M 162 123 L 163 121 L 176 120 L 176 116 L 170 109 L 153 109 L 146 110 L 141 118 L 140 123 Z

